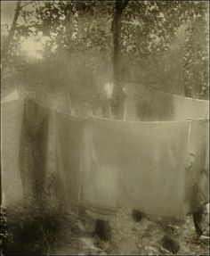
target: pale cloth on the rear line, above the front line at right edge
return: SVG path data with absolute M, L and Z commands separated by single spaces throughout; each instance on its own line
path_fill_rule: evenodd
M 209 101 L 174 95 L 174 120 L 208 118 Z

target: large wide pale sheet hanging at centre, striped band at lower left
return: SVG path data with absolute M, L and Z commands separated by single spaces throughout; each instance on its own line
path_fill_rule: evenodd
M 92 117 L 87 127 L 85 201 L 94 218 L 114 216 L 117 201 L 160 217 L 184 217 L 189 122 Z

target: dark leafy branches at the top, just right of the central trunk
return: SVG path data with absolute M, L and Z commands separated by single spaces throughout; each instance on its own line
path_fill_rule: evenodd
M 122 28 L 125 52 L 141 59 L 147 59 L 150 54 L 157 58 L 168 49 L 184 22 L 205 12 L 202 1 L 130 1 Z

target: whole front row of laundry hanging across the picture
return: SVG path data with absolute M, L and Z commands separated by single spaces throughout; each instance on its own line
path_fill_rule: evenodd
M 34 110 L 39 109 L 39 116 L 43 118 L 37 118 L 37 123 L 28 119 L 32 122 L 29 127 L 34 126 L 38 132 L 42 129 L 38 122 L 42 121 L 45 128 L 41 134 L 44 133 L 44 140 L 47 140 L 42 158 L 46 166 L 44 175 L 36 176 L 38 182 L 48 189 L 47 179 L 53 166 L 58 199 L 63 199 L 69 208 L 77 208 L 83 189 L 86 210 L 93 218 L 115 216 L 117 201 L 148 214 L 183 218 L 200 203 L 208 202 L 209 123 L 197 120 L 206 118 L 208 102 L 201 104 L 196 115 L 185 114 L 192 120 L 187 121 L 180 110 L 176 116 L 180 113 L 181 118 L 158 122 L 93 116 L 80 119 L 34 103 Z M 21 124 L 25 119 L 23 102 L 2 103 L 2 109 L 3 191 L 5 202 L 11 204 L 22 199 L 26 190 L 24 180 L 31 180 L 31 177 L 25 172 L 23 180 L 20 173 L 20 165 L 27 155 L 21 155 L 18 160 L 19 142 L 23 142 Z M 30 148 L 31 152 L 37 151 L 37 148 Z M 10 153 L 14 161 L 11 161 Z M 32 157 L 33 153 L 30 155 Z M 41 160 L 36 157 L 35 161 Z M 17 189 L 13 192 L 15 181 Z

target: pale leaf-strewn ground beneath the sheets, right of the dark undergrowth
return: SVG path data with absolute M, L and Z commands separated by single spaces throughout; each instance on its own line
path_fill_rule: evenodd
M 138 254 L 138 255 L 172 255 L 161 243 L 161 238 L 166 234 L 163 228 L 151 219 L 144 217 L 140 222 L 135 222 L 131 211 L 121 209 L 116 219 L 111 221 L 111 242 L 101 242 L 92 235 L 94 221 L 83 217 L 77 221 L 77 235 L 69 233 L 67 244 L 57 248 L 55 255 L 106 255 L 106 254 Z M 178 255 L 209 255 L 209 240 L 198 239 L 192 217 L 173 226 L 174 237 L 180 243 Z M 205 232 L 209 234 L 209 224 L 204 223 Z

